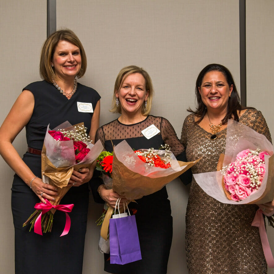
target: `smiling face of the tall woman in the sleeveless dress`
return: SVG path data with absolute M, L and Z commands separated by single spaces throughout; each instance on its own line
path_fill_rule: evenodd
M 80 49 L 68 41 L 60 40 L 51 61 L 56 77 L 75 78 L 81 69 L 81 64 Z

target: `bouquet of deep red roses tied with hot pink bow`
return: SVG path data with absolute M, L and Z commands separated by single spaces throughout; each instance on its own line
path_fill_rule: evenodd
M 59 205 L 61 199 L 71 188 L 68 182 L 73 170 L 82 167 L 90 167 L 103 150 L 100 141 L 93 145 L 86 134 L 83 123 L 72 126 L 64 122 L 54 130 L 46 131 L 41 154 L 42 181 L 58 188 L 59 195 L 55 201 L 46 200 L 46 204 L 37 203 L 36 211 L 23 224 L 31 222 L 30 230 L 42 235 L 43 232 L 50 232 L 53 224 L 53 215 L 56 210 L 71 212 L 73 205 Z M 45 214 L 47 213 L 47 214 Z M 66 235 L 69 231 L 69 216 L 66 213 Z

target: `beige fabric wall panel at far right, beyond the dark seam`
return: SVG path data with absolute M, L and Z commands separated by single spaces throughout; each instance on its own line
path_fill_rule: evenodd
M 274 1 L 246 1 L 246 104 L 259 109 L 274 140 Z M 274 229 L 267 225 L 274 253 Z M 268 269 L 268 274 L 274 268 Z

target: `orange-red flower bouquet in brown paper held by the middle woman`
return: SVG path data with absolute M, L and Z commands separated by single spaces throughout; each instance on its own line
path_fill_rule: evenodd
M 101 169 L 112 171 L 111 180 L 103 176 L 104 183 L 111 181 L 113 191 L 134 201 L 159 191 L 200 160 L 177 161 L 166 146 L 163 148 L 164 150 L 151 148 L 133 151 L 125 140 L 122 141 L 113 148 L 112 162 L 109 158 L 99 163 Z M 108 239 L 109 217 L 112 211 L 112 208 L 108 209 L 108 218 L 105 217 L 101 228 L 101 238 L 105 241 Z

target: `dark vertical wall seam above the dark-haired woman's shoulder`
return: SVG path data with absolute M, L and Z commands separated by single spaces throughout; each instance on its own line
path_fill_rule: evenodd
M 239 0 L 241 105 L 246 106 L 246 0 Z

